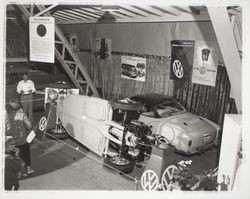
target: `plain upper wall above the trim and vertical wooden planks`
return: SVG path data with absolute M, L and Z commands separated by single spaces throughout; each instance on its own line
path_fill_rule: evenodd
M 217 44 L 211 22 L 75 24 L 60 28 L 64 33 L 77 33 L 82 49 L 92 49 L 94 38 L 110 38 L 112 51 L 159 56 L 171 55 L 170 41 L 174 39 Z

